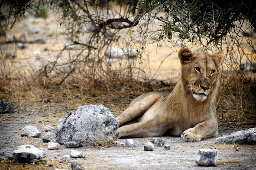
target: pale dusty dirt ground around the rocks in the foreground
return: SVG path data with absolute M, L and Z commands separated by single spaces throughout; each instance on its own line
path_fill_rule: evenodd
M 104 100 L 103 100 L 104 101 Z M 116 102 L 118 105 L 118 102 Z M 104 104 L 104 103 L 103 103 Z M 29 109 L 27 109 L 29 108 Z M 71 162 L 79 162 L 84 169 L 122 169 L 122 170 L 242 170 L 256 169 L 256 146 L 255 145 L 233 145 L 214 144 L 216 137 L 204 139 L 198 143 L 183 142 L 180 137 L 160 137 L 165 144 L 171 145 L 171 150 L 164 147 L 155 147 L 154 151 L 144 151 L 144 144 L 150 138 L 134 138 L 134 146 L 131 147 L 79 147 L 84 158 L 71 158 L 70 163 L 61 163 L 63 155 L 69 155 L 70 149 L 61 146 L 58 150 L 48 150 L 47 143 L 43 143 L 41 137 L 21 137 L 23 127 L 32 124 L 44 135 L 44 127 L 51 125 L 56 128 L 59 118 L 76 108 L 61 105 L 42 104 L 40 107 L 16 107 L 16 112 L 12 114 L 0 115 L 0 151 L 5 152 L 5 156 L 0 156 L 0 170 L 53 170 L 55 168 L 71 169 Z M 117 112 L 110 108 L 112 112 Z M 39 122 L 41 121 L 41 122 Z M 245 127 L 219 126 L 219 135 L 244 129 Z M 247 127 L 246 127 L 247 128 Z M 123 141 L 124 139 L 118 139 Z M 36 164 L 20 163 L 6 159 L 8 154 L 16 150 L 22 144 L 33 144 L 44 150 L 46 157 Z M 195 163 L 195 154 L 199 149 L 217 149 L 218 166 L 200 167 Z M 250 168 L 246 168 L 249 166 Z

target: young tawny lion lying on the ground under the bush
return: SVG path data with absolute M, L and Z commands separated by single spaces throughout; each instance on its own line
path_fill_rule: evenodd
M 148 92 L 135 98 L 119 116 L 119 138 L 181 136 L 198 142 L 218 135 L 216 105 L 224 53 L 209 55 L 182 48 L 180 80 L 172 92 Z

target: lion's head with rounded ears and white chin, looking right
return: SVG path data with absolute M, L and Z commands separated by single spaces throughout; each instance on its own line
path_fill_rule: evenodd
M 185 92 L 190 93 L 197 101 L 205 101 L 216 87 L 224 53 L 218 52 L 212 56 L 203 49 L 191 52 L 182 48 L 178 57 Z

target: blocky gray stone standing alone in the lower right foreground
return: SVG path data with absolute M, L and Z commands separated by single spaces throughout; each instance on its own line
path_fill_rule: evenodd
M 195 155 L 195 162 L 201 166 L 217 166 L 217 150 L 201 149 Z

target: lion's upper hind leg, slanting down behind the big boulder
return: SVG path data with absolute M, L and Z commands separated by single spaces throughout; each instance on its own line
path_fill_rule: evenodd
M 152 93 L 129 106 L 124 112 L 116 117 L 118 120 L 118 126 L 121 126 L 122 124 L 143 115 L 143 113 L 145 113 L 154 103 L 156 103 L 161 96 L 162 95 L 158 93 Z

